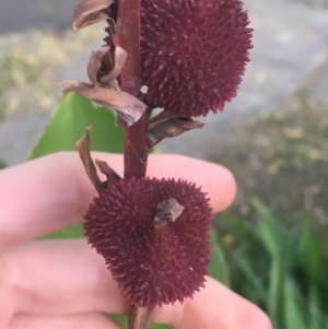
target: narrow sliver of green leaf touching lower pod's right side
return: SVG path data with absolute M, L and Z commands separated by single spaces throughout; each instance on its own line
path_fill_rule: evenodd
M 224 285 L 230 286 L 229 279 L 229 268 L 222 252 L 220 245 L 216 242 L 216 236 L 214 230 L 210 232 L 210 243 L 212 248 L 211 254 L 211 263 L 208 267 L 208 270 L 212 278 L 222 282 Z

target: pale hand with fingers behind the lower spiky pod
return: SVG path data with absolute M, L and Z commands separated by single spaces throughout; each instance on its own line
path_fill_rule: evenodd
M 93 153 L 122 174 L 122 156 Z M 195 181 L 214 212 L 236 193 L 224 167 L 180 155 L 151 155 L 148 175 Z M 57 153 L 0 172 L 0 328 L 116 329 L 127 313 L 104 259 L 85 239 L 34 240 L 80 222 L 96 196 L 77 153 Z M 176 329 L 270 329 L 254 304 L 207 278 L 194 299 L 156 307 L 152 320 Z

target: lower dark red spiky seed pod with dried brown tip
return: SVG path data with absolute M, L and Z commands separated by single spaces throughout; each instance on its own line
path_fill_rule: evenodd
M 178 204 L 168 220 L 161 210 L 164 221 L 156 218 L 163 201 Z M 203 286 L 211 208 L 195 184 L 121 179 L 94 199 L 84 219 L 89 243 L 105 258 L 130 303 L 145 307 L 183 302 Z

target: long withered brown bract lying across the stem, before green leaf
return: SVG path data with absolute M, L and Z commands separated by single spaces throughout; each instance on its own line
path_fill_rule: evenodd
M 61 84 L 70 91 L 116 110 L 125 127 L 137 122 L 147 108 L 144 103 L 126 92 L 93 86 L 79 81 L 63 81 Z

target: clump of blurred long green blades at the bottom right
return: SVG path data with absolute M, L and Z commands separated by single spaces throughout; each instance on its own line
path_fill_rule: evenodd
M 327 329 L 328 257 L 312 218 L 286 228 L 259 200 L 256 223 L 229 213 L 218 237 L 231 287 L 265 309 L 274 329 Z

